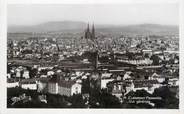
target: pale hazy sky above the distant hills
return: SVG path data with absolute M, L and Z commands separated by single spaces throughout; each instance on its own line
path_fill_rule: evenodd
M 164 24 L 178 25 L 179 5 L 94 4 L 94 5 L 8 5 L 8 25 L 34 25 L 48 21 L 84 21 L 95 24 Z

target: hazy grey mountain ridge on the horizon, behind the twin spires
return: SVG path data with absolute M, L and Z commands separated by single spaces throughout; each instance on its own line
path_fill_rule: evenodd
M 87 23 L 80 21 L 53 21 L 33 26 L 9 26 L 8 33 L 16 32 L 82 32 L 86 29 Z M 100 32 L 129 32 L 129 33 L 178 33 L 179 27 L 174 25 L 139 24 L 139 25 L 95 25 Z

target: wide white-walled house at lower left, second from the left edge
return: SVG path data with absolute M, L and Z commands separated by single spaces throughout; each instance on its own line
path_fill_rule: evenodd
M 19 86 L 23 89 L 37 90 L 37 79 L 23 79 L 19 82 Z

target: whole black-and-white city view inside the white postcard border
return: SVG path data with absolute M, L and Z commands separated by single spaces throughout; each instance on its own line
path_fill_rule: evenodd
M 179 2 L 7 4 L 6 108 L 179 109 L 179 29 Z

